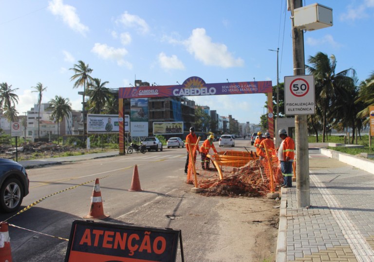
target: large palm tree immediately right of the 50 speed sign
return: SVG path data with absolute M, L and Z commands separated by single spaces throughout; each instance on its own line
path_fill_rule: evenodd
M 316 100 L 317 106 L 320 107 L 322 114 L 322 142 L 325 142 L 327 136 L 327 126 L 329 121 L 329 109 L 332 105 L 334 96 L 342 94 L 343 86 L 349 86 L 352 78 L 355 76 L 355 70 L 352 68 L 335 73 L 337 60 L 334 55 L 328 57 L 322 52 L 318 52 L 316 56 L 309 56 L 308 62 L 312 66 L 306 66 L 308 71 L 314 75 L 316 82 Z

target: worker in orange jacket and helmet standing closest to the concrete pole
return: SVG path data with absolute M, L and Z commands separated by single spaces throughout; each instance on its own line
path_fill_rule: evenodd
M 292 187 L 292 162 L 295 158 L 295 142 L 287 135 L 285 129 L 278 131 L 282 139 L 278 149 L 278 159 L 281 161 L 281 171 L 284 178 L 282 187 Z

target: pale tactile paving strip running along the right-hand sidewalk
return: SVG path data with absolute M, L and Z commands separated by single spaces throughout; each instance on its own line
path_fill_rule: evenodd
M 309 172 L 313 173 L 312 171 Z M 347 213 L 344 210 L 341 210 L 342 206 L 337 199 L 329 192 L 326 186 L 320 182 L 316 175 L 310 175 L 310 179 L 313 181 L 316 187 L 318 187 L 321 196 L 326 201 L 331 214 L 337 222 L 337 225 L 339 225 L 340 230 L 343 233 L 344 238 L 349 243 L 356 259 L 360 262 L 373 261 L 372 259 L 374 257 L 374 251 L 366 242 L 364 236 L 360 233 L 356 225 L 351 221 Z

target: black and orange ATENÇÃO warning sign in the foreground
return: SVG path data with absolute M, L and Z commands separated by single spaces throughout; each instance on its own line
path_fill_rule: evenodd
M 175 262 L 180 230 L 75 220 L 65 262 Z

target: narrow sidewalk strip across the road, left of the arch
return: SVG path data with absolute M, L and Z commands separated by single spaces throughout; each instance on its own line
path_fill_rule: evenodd
M 36 159 L 36 160 L 23 160 L 23 161 L 19 161 L 19 164 L 21 164 L 24 168 L 38 168 L 38 167 L 47 166 L 47 165 L 61 164 L 64 162 L 76 162 L 76 161 L 117 156 L 117 155 L 119 155 L 118 150 L 112 151 L 112 152 L 103 152 L 103 153 L 94 153 L 94 154 L 43 158 L 43 159 Z

